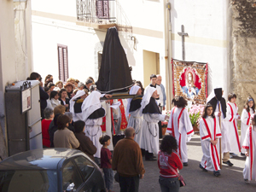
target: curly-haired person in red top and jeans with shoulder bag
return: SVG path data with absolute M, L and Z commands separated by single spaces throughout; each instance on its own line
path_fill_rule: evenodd
M 181 170 L 183 168 L 183 163 L 175 150 L 177 150 L 176 139 L 171 135 L 164 137 L 158 153 L 158 167 L 160 168 L 159 183 L 162 192 L 176 192 L 180 187 L 177 175 L 169 168 L 169 166 L 172 166 L 175 170 Z

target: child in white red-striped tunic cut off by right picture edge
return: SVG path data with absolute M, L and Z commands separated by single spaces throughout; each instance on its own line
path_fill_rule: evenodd
M 255 160 L 255 148 L 256 148 L 256 117 L 252 114 L 252 125 L 247 129 L 245 140 L 242 144 L 242 148 L 246 148 L 247 160 L 243 169 L 243 178 L 246 183 L 251 180 L 256 181 L 256 160 Z

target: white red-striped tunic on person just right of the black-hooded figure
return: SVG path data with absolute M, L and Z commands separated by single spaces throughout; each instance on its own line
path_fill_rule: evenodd
M 236 124 L 236 119 L 238 119 L 239 114 L 237 113 L 238 108 L 236 103 L 228 102 L 227 103 L 227 116 L 226 119 L 228 125 L 228 135 L 230 140 L 230 152 L 241 152 L 239 134 Z

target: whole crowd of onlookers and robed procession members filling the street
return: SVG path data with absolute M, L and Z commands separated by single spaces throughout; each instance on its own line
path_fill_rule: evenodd
M 111 99 L 111 95 L 101 94 L 91 77 L 84 83 L 68 79 L 66 84 L 61 81 L 54 84 L 52 75 L 48 75 L 43 84 L 38 73 L 32 73 L 30 79 L 40 81 L 44 148 L 83 151 L 101 166 L 108 191 L 113 189 L 113 177 L 119 181 L 120 191 L 138 191 L 139 179 L 145 173 L 143 156 L 145 160 L 158 160 L 161 191 L 178 191 L 180 183 L 176 171 L 189 165 L 187 142 L 194 131 L 183 96 L 172 100 L 174 108 L 170 117 L 162 114 L 166 108 L 166 93 L 160 75 L 152 74 L 145 90 L 140 81 L 134 80 L 129 94 L 137 96 L 129 99 Z M 223 163 L 229 166 L 233 166 L 231 155 L 241 152 L 247 155 L 244 179 L 248 182 L 256 179 L 253 171 L 254 100 L 248 97 L 240 117 L 236 95 L 229 95 L 227 105 L 222 95 L 221 88 L 212 90 L 200 121 L 203 152 L 200 168 L 218 177 L 219 150 L 224 153 Z M 167 119 L 167 135 L 159 146 L 160 122 Z M 241 143 L 236 119 L 241 119 Z M 220 142 L 221 148 L 218 147 Z M 158 154 L 157 159 L 154 154 Z M 113 171 L 117 171 L 114 176 Z

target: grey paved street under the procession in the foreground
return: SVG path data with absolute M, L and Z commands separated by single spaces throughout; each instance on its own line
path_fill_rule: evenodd
M 186 191 L 255 191 L 256 182 L 247 184 L 243 181 L 242 170 L 245 158 L 238 156 L 230 159 L 234 166 L 223 165 L 220 177 L 214 177 L 212 172 L 202 172 L 199 168 L 201 161 L 201 141 L 199 136 L 193 136 L 188 143 L 189 166 L 180 171 L 187 186 L 180 189 Z M 140 191 L 160 191 L 158 183 L 159 169 L 157 161 L 144 161 L 145 177 L 140 180 Z M 119 191 L 119 183 L 114 183 L 113 191 Z

